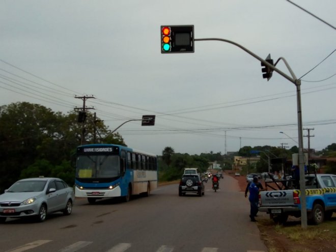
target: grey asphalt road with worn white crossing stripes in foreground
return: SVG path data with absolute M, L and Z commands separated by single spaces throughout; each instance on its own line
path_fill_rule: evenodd
M 178 185 L 128 203 L 76 199 L 70 216 L 52 214 L 42 223 L 13 219 L 0 225 L 0 251 L 220 252 L 267 251 L 249 204 L 234 178 L 220 180 L 203 197 L 178 196 Z

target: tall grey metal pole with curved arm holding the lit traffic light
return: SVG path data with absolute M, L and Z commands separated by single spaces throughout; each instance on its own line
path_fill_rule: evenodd
M 305 193 L 305 180 L 304 180 L 304 155 L 303 155 L 303 133 L 302 133 L 302 110 L 301 110 L 301 80 L 297 79 L 294 72 L 288 65 L 287 61 L 284 58 L 279 58 L 274 66 L 268 63 L 266 60 L 260 58 L 257 54 L 251 52 L 247 48 L 242 45 L 235 43 L 233 41 L 227 39 L 219 39 L 219 38 L 204 38 L 204 39 L 194 39 L 194 41 L 222 41 L 238 46 L 242 50 L 246 51 L 248 54 L 262 62 L 265 66 L 282 75 L 296 86 L 296 100 L 297 100 L 297 128 L 298 128 L 298 139 L 299 139 L 299 170 L 300 170 L 300 192 L 301 192 L 301 228 L 307 228 L 307 209 L 306 209 L 306 193 Z M 290 74 L 292 76 L 287 75 L 281 70 L 277 69 L 275 66 L 280 61 L 283 60 L 286 67 L 288 68 Z

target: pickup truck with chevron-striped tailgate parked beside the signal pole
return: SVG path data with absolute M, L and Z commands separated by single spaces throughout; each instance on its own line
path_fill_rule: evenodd
M 305 175 L 306 209 L 309 223 L 318 224 L 336 212 L 336 175 Z M 300 217 L 301 192 L 298 189 L 261 191 L 259 211 L 267 212 L 275 222 L 284 223 L 289 215 Z

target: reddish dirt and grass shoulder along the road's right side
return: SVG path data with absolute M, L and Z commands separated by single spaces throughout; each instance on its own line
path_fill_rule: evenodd
M 240 191 L 245 191 L 245 176 L 235 177 Z M 302 230 L 300 218 L 289 217 L 285 225 L 275 225 L 268 215 L 257 217 L 261 238 L 269 252 L 335 252 L 336 251 L 336 213 L 331 220 L 318 226 Z

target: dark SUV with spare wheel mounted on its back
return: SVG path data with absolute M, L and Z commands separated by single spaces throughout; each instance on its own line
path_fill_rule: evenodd
M 179 185 L 179 196 L 185 195 L 187 192 L 204 195 L 204 184 L 198 174 L 186 174 L 182 176 Z

